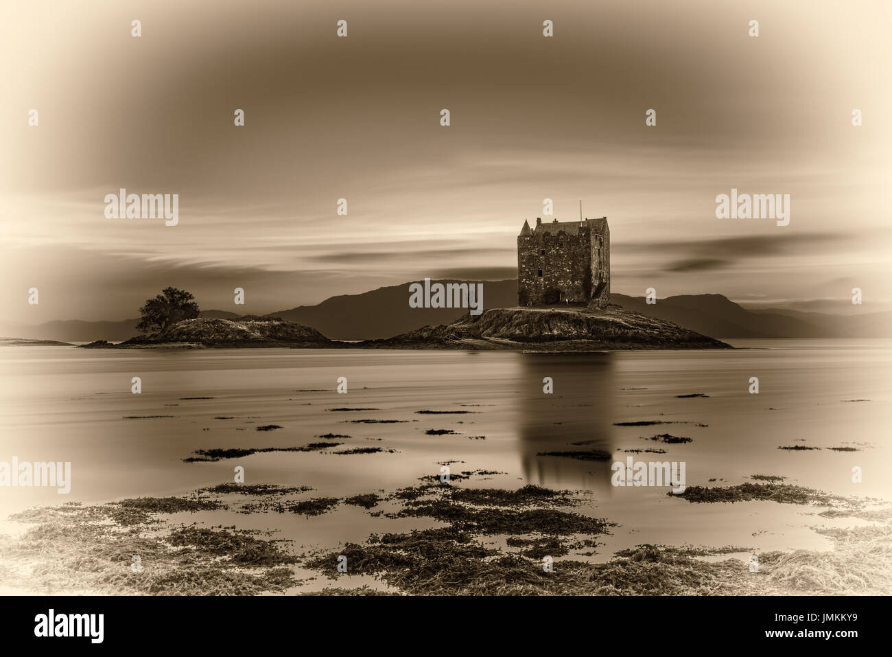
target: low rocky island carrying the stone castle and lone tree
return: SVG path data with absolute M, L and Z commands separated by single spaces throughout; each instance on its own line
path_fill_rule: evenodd
M 468 308 L 467 315 L 384 339 L 331 340 L 315 328 L 280 317 L 200 317 L 194 296 L 166 287 L 140 309 L 136 328 L 154 330 L 119 345 L 99 340 L 88 348 L 294 347 L 362 349 L 470 349 L 594 352 L 616 349 L 732 349 L 731 345 L 610 302 L 610 228 L 607 217 L 524 226 L 517 236 L 517 306 L 483 307 L 483 286 L 447 286 L 434 308 Z M 425 290 L 429 279 L 425 279 Z M 418 285 L 418 284 L 413 284 Z M 418 285 L 420 288 L 420 285 Z M 442 287 L 442 286 L 441 286 Z M 450 292 L 450 287 L 452 288 Z M 409 286 L 411 291 L 412 286 Z M 461 293 L 464 292 L 464 295 Z M 425 294 L 428 294 L 425 292 Z M 439 293 L 443 295 L 441 291 Z M 439 304 L 439 305 L 438 305 Z M 376 309 L 377 311 L 378 309 Z M 386 312 L 386 309 L 381 309 Z

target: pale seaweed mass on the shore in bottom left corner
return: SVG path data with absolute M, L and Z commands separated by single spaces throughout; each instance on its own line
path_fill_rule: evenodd
M 184 510 L 172 502 L 180 499 L 70 503 L 17 513 L 10 520 L 33 527 L 4 539 L 4 583 L 43 595 L 258 595 L 297 584 L 290 567 L 296 557 L 281 541 L 227 529 L 168 531 L 150 515 Z M 15 564 L 22 562 L 39 567 L 21 571 Z M 136 563 L 139 568 L 132 568 Z

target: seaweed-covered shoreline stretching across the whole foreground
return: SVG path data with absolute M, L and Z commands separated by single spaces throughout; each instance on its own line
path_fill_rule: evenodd
M 68 595 L 888 595 L 892 591 L 888 508 L 869 526 L 814 528 L 830 537 L 834 545 L 830 551 L 759 553 L 756 572 L 747 568 L 742 556 L 752 549 L 739 545 L 641 544 L 616 550 L 606 561 L 591 561 L 589 557 L 604 546 L 599 537 L 619 525 L 575 511 L 591 503 L 590 494 L 532 485 L 475 487 L 485 474 L 467 471 L 449 484 L 422 481 L 383 495 L 343 498 L 318 498 L 307 487 L 220 484 L 182 496 L 31 508 L 9 519 L 28 529 L 17 536 L 0 536 L 4 547 L 0 573 L 5 590 L 26 595 L 62 591 Z M 751 487 L 764 489 L 767 500 L 784 485 Z M 762 503 L 826 506 L 819 515 L 850 517 L 857 517 L 866 503 L 791 488 L 805 496 Z M 211 526 L 211 520 L 188 522 L 201 520 L 202 513 L 210 511 L 238 514 L 233 520 L 259 513 L 293 513 L 310 519 L 342 504 L 377 517 L 415 518 L 417 528 L 399 534 L 372 533 L 362 543 L 308 550 L 306 545 L 278 539 L 275 529 L 239 529 L 237 522 L 219 523 L 218 516 L 213 516 Z M 428 520 L 436 521 L 434 527 Z M 865 563 L 865 552 L 876 561 Z M 337 570 L 343 557 L 346 573 Z M 553 559 L 551 572 L 542 567 L 547 557 Z M 91 564 L 88 569 L 83 568 L 85 562 Z

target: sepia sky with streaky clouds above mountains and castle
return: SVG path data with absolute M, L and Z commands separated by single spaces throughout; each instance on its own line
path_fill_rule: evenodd
M 613 292 L 892 309 L 883 0 L 35 0 L 0 26 L 4 320 L 516 278 L 524 220 L 580 201 Z M 178 225 L 106 218 L 121 187 L 178 194 Z M 732 187 L 789 194 L 789 225 L 717 219 Z

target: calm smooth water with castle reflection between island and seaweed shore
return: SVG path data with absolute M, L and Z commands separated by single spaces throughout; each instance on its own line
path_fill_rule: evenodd
M 70 495 L 46 488 L 0 488 L 0 515 L 5 518 L 35 504 L 182 495 L 232 481 L 235 465 L 244 466 L 246 483 L 314 487 L 308 496 L 390 492 L 439 474 L 439 462 L 458 461 L 450 466 L 453 472 L 506 473 L 474 480 L 475 486 L 533 483 L 591 491 L 591 503 L 579 511 L 621 525 L 596 558 L 639 543 L 826 548 L 825 539 L 810 526 L 851 526 L 856 521 L 824 520 L 795 505 L 690 504 L 668 498 L 666 488 L 611 487 L 609 462 L 537 455 L 601 449 L 625 461 L 624 449 L 663 447 L 666 454 L 632 456 L 636 461 L 685 462 L 688 486 L 711 479 L 716 480 L 712 485 L 735 485 L 752 474 L 782 475 L 802 486 L 892 500 L 892 341 L 731 342 L 747 348 L 540 355 L 5 347 L 0 351 L 0 460 L 8 462 L 15 455 L 22 461 L 69 461 L 72 485 Z M 134 376 L 142 378 L 141 395 L 130 392 Z M 349 381 L 347 395 L 335 393 L 336 379 L 342 376 Z M 747 392 L 754 376 L 760 381 L 759 395 Z M 542 393 L 544 377 L 554 379 L 553 395 Z M 708 397 L 676 398 L 691 393 Z M 379 410 L 326 410 L 339 407 Z M 416 413 L 423 409 L 473 413 Z M 124 420 L 128 415 L 176 417 Z M 345 421 L 359 419 L 408 421 Z M 632 420 L 673 424 L 614 424 Z M 255 430 L 265 424 L 283 428 Z M 458 435 L 425 436 L 430 428 L 449 428 Z M 329 432 L 351 436 L 339 449 L 378 446 L 397 452 L 260 453 L 220 462 L 182 462 L 200 448 L 305 445 Z M 662 433 L 693 442 L 663 445 L 647 439 Z M 780 445 L 855 446 L 862 451 L 788 452 L 779 450 Z M 851 481 L 855 465 L 863 468 L 861 484 Z M 232 524 L 235 514 L 203 515 Z M 277 527 L 282 537 L 301 545 L 335 545 L 363 540 L 371 532 L 435 524 L 370 518 L 343 504 L 310 519 L 268 513 L 237 520 L 244 527 Z M 12 524 L 2 528 L 11 530 Z

